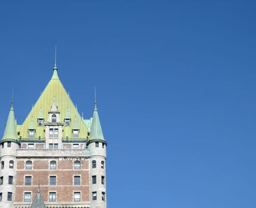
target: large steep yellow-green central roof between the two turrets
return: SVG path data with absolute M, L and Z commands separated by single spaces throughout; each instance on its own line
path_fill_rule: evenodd
M 42 118 L 43 115 L 43 118 L 46 122 L 49 117 L 48 111 L 51 110 L 53 105 L 57 105 L 58 111 L 60 111 L 61 122 L 64 121 L 64 117 L 68 108 L 71 125 L 64 127 L 63 138 L 72 138 L 73 125 L 79 126 L 79 138 L 88 138 L 88 128 L 86 128 L 83 119 L 79 115 L 79 112 L 71 101 L 68 93 L 64 89 L 64 86 L 58 77 L 57 67 L 54 67 L 52 78 L 48 85 L 45 87 L 45 90 L 43 90 L 35 106 L 33 106 L 23 124 L 19 126 L 18 131 L 20 132 L 20 137 L 28 138 L 27 131 L 29 129 L 30 123 L 32 122 L 31 118 L 33 118 L 34 124 L 37 124 L 38 118 Z M 75 120 L 76 122 L 74 122 Z M 45 135 L 42 131 L 43 127 L 38 127 L 37 125 L 35 126 L 35 137 L 45 138 Z

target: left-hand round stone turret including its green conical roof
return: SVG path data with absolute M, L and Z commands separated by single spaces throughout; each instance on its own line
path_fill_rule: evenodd
M 16 174 L 16 150 L 20 147 L 14 116 L 13 101 L 5 125 L 4 135 L 0 141 L 0 201 L 1 208 L 13 207 Z

